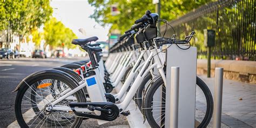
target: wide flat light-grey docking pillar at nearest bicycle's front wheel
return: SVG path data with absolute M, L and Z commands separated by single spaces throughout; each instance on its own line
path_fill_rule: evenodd
M 197 48 L 180 48 L 172 44 L 166 51 L 165 127 L 194 127 Z

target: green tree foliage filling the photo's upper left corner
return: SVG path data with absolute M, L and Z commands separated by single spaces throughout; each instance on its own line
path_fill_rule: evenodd
M 26 35 L 50 19 L 52 8 L 49 0 L 1 0 L 0 31 L 9 28 Z

